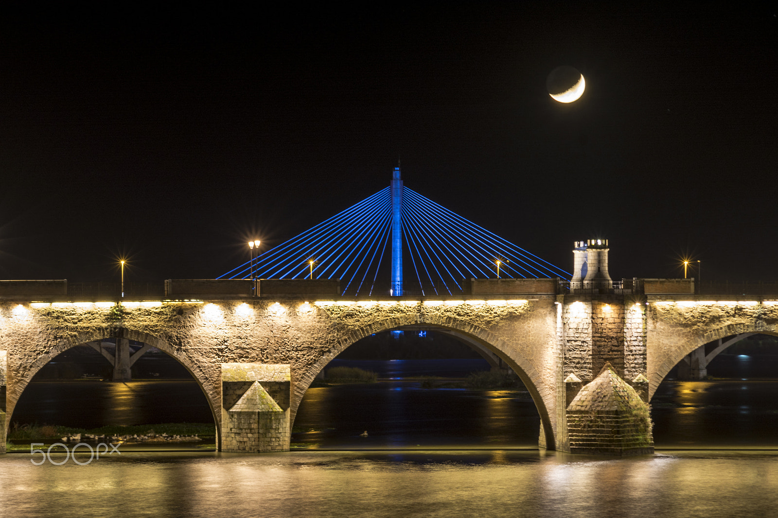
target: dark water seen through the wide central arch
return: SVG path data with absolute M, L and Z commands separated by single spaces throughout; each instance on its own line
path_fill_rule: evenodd
M 293 442 L 343 450 L 371 448 L 534 448 L 540 417 L 517 390 L 424 389 L 419 382 L 310 388 Z M 360 436 L 366 431 L 368 435 Z

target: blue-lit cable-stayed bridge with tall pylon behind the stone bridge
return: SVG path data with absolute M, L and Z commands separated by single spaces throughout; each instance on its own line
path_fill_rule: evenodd
M 343 295 L 423 296 L 496 276 L 572 274 L 404 187 L 395 167 L 390 186 L 219 278 L 340 278 Z

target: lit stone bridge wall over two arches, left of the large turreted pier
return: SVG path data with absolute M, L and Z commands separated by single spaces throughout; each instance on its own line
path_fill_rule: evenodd
M 345 348 L 372 333 L 424 325 L 457 331 L 516 370 L 553 447 L 559 366 L 555 296 L 512 297 L 0 303 L 0 349 L 8 351 L 6 412 L 12 415 L 26 384 L 56 355 L 90 341 L 127 338 L 159 348 L 187 368 L 209 401 L 219 434 L 223 364 L 289 366 L 291 426 L 307 387 Z

